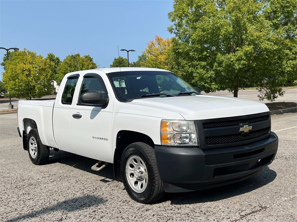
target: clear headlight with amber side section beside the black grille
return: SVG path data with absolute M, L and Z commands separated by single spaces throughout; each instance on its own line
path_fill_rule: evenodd
M 162 120 L 161 144 L 162 145 L 198 145 L 198 136 L 194 121 L 187 120 Z

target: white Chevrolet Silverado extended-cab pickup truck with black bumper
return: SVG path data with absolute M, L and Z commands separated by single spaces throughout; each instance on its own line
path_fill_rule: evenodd
M 152 68 L 104 68 L 65 75 L 55 100 L 18 103 L 18 132 L 31 161 L 49 150 L 113 163 L 141 203 L 242 181 L 277 153 L 267 106 L 202 95 L 177 75 Z M 97 162 L 97 161 L 96 161 Z

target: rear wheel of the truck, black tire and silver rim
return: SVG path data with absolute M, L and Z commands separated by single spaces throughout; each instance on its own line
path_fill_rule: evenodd
M 42 144 L 37 129 L 30 130 L 27 147 L 30 160 L 35 165 L 42 165 L 48 160 L 50 149 Z

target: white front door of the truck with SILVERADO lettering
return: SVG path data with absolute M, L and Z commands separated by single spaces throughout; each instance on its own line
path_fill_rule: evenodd
M 88 91 L 97 91 L 102 94 L 102 98 L 108 98 L 108 92 L 100 75 L 87 73 L 83 76 L 78 101 L 72 107 L 72 144 L 78 155 L 112 163 L 110 147 L 112 147 L 113 104 L 110 102 L 103 107 L 82 104 L 80 95 Z

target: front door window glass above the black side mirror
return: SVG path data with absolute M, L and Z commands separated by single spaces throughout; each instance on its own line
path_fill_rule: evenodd
M 83 78 L 83 83 L 80 88 L 78 104 L 81 104 L 80 102 L 81 94 L 85 92 L 91 92 L 91 91 L 96 91 L 101 93 L 102 98 L 108 98 L 107 92 L 105 91 L 105 88 L 102 87 L 102 84 L 100 83 L 100 81 L 96 77 L 86 76 Z

